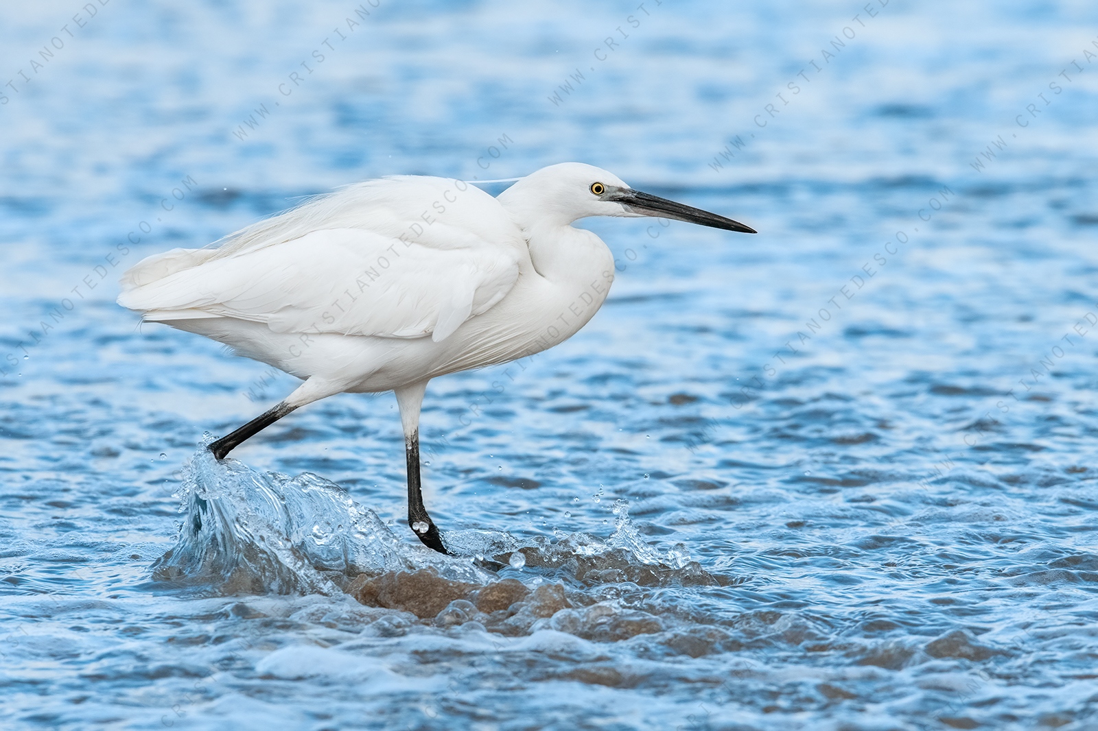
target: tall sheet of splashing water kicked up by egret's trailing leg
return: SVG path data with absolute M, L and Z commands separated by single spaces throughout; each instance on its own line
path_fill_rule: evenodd
M 312 473 L 258 472 L 219 462 L 203 443 L 176 493 L 186 518 L 178 543 L 153 566 L 159 581 L 224 594 L 336 594 L 349 577 L 434 567 L 484 583 L 469 560 L 405 543 L 339 485 Z

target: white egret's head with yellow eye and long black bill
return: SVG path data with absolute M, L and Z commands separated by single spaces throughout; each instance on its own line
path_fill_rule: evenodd
M 713 228 L 754 234 L 750 226 L 716 213 L 634 190 L 608 170 L 561 162 L 533 172 L 500 194 L 500 202 L 524 227 L 570 224 L 587 216 L 660 216 Z

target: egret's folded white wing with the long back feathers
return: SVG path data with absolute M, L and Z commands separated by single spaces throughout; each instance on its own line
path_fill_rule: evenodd
M 408 200 L 414 188 L 408 181 L 423 180 L 430 181 L 426 191 L 421 185 L 418 200 Z M 444 203 L 435 210 L 450 205 L 449 215 L 424 215 L 435 195 L 449 201 L 441 198 L 439 180 L 371 181 L 391 184 L 381 187 L 382 195 L 367 188 L 372 198 L 358 196 L 357 218 L 346 214 L 347 201 L 334 206 L 322 199 L 325 216 L 303 206 L 259 224 L 262 236 L 253 233 L 249 240 L 246 229 L 215 254 L 159 255 L 127 273 L 119 302 L 164 322 L 233 317 L 266 323 L 278 333 L 442 340 L 506 295 L 526 248 L 498 203 L 480 191 L 488 201 L 469 195 L 473 205 Z M 285 220 L 271 225 L 279 218 Z M 287 232 L 329 221 L 344 225 L 287 240 Z M 198 263 L 188 266 L 192 262 Z

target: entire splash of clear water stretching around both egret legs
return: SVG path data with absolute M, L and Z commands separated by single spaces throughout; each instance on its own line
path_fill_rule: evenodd
M 607 570 L 625 569 L 628 575 L 640 566 L 664 572 L 697 566 L 690 566 L 681 544 L 666 555 L 648 546 L 624 499 L 614 504 L 615 529 L 605 541 L 572 533 L 557 543 L 535 539 L 524 544 L 506 532 L 455 530 L 445 541 L 458 555 L 446 556 L 401 540 L 373 510 L 324 477 L 259 472 L 234 459 L 219 462 L 206 449 L 209 439 L 183 468 L 176 495 L 184 519 L 177 544 L 153 565 L 156 581 L 217 594 L 333 595 L 362 574 L 428 567 L 445 578 L 488 584 L 497 577 L 478 565 L 485 560 L 516 570 L 529 561 L 554 570 L 554 577 L 580 583 L 597 581 L 598 572 Z M 698 572 L 699 566 L 687 571 Z M 612 572 L 607 580 L 618 575 Z

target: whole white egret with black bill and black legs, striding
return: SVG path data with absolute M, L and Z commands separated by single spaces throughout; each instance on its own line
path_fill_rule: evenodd
M 304 380 L 210 445 L 220 460 L 305 404 L 393 391 L 407 458 L 408 526 L 447 553 L 423 504 L 419 409 L 430 379 L 551 348 L 598 311 L 614 257 L 586 216 L 664 216 L 753 234 L 580 162 L 492 198 L 461 180 L 349 185 L 248 226 L 217 248 L 172 249 L 122 277 L 117 302 Z

